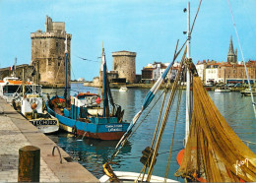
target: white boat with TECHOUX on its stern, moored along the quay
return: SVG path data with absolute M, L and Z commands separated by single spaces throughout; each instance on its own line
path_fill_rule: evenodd
M 28 119 L 39 132 L 44 134 L 58 132 L 58 119 L 44 110 L 45 98 L 43 98 L 41 86 L 23 81 L 13 76 L 4 78 L 4 83 L 0 84 L 2 96 L 11 102 L 14 109 Z

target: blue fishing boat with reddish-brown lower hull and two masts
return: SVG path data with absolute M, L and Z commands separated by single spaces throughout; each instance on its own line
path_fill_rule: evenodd
M 65 66 L 67 66 L 67 45 Z M 126 132 L 129 123 L 123 121 L 124 110 L 113 102 L 106 76 L 104 48 L 101 55 L 103 89 L 101 96 L 91 92 L 80 92 L 67 97 L 65 82 L 64 97 L 54 95 L 46 102 L 47 111 L 59 119 L 60 127 L 67 132 L 98 140 L 119 140 Z M 65 67 L 65 78 L 67 67 Z M 67 81 L 67 80 L 65 80 Z M 110 110 L 112 109 L 112 110 Z

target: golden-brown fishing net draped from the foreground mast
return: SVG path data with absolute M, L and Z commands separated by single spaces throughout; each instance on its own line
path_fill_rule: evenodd
M 256 155 L 225 122 L 199 77 L 193 79 L 194 108 L 188 142 L 175 176 L 189 181 L 256 181 Z

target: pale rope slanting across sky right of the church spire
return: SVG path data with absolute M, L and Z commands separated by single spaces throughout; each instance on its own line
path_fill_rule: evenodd
M 240 50 L 241 56 L 242 56 L 242 61 L 243 61 L 244 69 L 245 69 L 245 72 L 246 72 L 246 77 L 247 77 L 247 81 L 248 81 L 248 85 L 249 85 L 249 90 L 251 91 L 252 107 L 253 107 L 253 109 L 254 109 L 254 116 L 255 116 L 255 118 L 256 118 L 256 105 L 255 105 L 254 98 L 253 98 L 253 93 L 252 93 L 252 90 L 251 90 L 251 84 L 250 84 L 250 79 L 249 79 L 248 71 L 247 71 L 247 68 L 246 68 L 246 63 L 245 63 L 244 57 L 243 57 L 243 52 L 242 52 L 241 43 L 240 43 L 238 31 L 237 31 L 236 26 L 235 26 L 235 23 L 234 23 L 233 13 L 232 13 L 230 1 L 227 0 L 227 2 L 228 2 L 229 11 L 230 11 L 230 14 L 231 14 L 231 17 L 232 17 L 233 28 L 234 28 L 234 30 L 235 30 L 235 34 L 236 34 L 236 37 L 237 37 L 237 41 L 238 41 L 238 45 L 239 45 L 239 50 Z

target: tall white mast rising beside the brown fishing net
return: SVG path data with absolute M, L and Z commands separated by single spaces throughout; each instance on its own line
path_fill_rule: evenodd
M 187 5 L 187 59 L 190 61 L 190 2 Z M 190 71 L 187 66 L 187 86 L 186 86 L 186 127 L 185 127 L 185 145 L 187 144 L 187 138 L 189 134 L 190 123 Z

